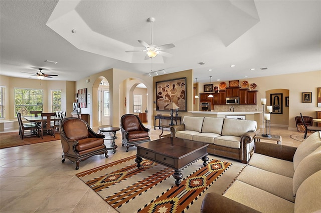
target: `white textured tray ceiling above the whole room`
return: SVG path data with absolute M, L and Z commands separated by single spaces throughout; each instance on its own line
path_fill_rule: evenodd
M 137 40 L 150 43 L 148 17 L 153 43 L 176 45 L 166 50 L 172 57 L 153 59 L 153 70 L 194 69 L 198 82 L 321 70 L 319 0 L 1 0 L 0 7 L 3 75 L 28 78 L 21 71 L 39 67 L 59 75 L 53 80 L 109 68 L 148 73 L 144 52 L 125 52 L 143 49 Z

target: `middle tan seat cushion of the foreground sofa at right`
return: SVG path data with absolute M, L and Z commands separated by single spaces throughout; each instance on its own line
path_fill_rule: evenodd
M 291 177 L 247 165 L 237 179 L 291 202 L 295 200 L 292 193 L 293 179 Z

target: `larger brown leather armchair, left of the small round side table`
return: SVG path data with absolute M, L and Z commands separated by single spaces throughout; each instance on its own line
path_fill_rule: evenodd
M 104 144 L 104 134 L 94 132 L 88 123 L 80 118 L 67 117 L 60 122 L 60 140 L 62 145 L 62 161 L 65 158 L 76 161 L 76 170 L 79 162 L 96 154 L 105 154 L 108 157 Z

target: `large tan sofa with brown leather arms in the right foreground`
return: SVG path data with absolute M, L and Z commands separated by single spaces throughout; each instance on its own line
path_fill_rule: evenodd
M 249 164 L 224 192 L 206 194 L 201 212 L 320 212 L 321 131 L 297 148 L 255 142 Z

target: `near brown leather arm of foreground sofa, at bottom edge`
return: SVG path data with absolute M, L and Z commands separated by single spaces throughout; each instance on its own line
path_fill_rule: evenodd
M 230 198 L 227 198 L 221 194 L 210 192 L 207 193 L 202 201 L 201 213 L 212 212 L 259 212 L 249 206 L 236 202 Z

